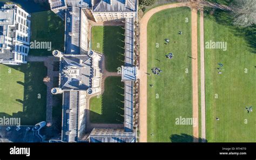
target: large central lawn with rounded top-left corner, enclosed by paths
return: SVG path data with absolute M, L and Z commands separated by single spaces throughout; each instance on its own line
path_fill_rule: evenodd
M 193 141 L 192 125 L 176 125 L 180 116 L 192 118 L 190 20 L 189 8 L 175 8 L 154 14 L 147 24 L 147 72 L 151 74 L 147 77 L 148 142 Z M 170 39 L 166 45 L 165 38 Z M 165 57 L 170 52 L 172 60 Z M 153 67 L 163 72 L 154 75 Z

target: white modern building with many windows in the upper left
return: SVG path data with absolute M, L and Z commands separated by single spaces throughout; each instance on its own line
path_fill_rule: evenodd
M 15 4 L 0 10 L 0 63 L 26 63 L 29 53 L 30 14 Z

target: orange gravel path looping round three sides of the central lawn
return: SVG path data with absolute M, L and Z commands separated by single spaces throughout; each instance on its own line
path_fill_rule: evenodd
M 191 7 L 191 2 L 175 3 L 158 6 L 147 11 L 140 20 L 140 64 L 138 78 L 140 79 L 139 88 L 139 124 L 140 124 L 140 142 L 147 142 L 147 23 L 154 13 L 161 10 L 177 8 L 181 6 Z M 197 10 L 192 9 L 192 56 L 197 57 Z M 198 67 L 197 59 L 192 61 L 192 82 L 193 82 L 193 118 L 197 118 L 197 125 L 193 127 L 194 142 L 198 141 Z

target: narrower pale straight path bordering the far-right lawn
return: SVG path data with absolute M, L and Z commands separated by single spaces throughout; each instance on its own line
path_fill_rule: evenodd
M 204 48 L 204 11 L 200 11 L 200 67 L 201 67 L 201 139 L 206 142 L 205 128 L 205 48 Z

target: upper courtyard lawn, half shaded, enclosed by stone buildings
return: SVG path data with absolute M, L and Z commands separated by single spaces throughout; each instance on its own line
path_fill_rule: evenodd
M 124 65 L 124 28 L 122 26 L 93 26 L 91 47 L 105 55 L 107 71 L 117 72 Z

